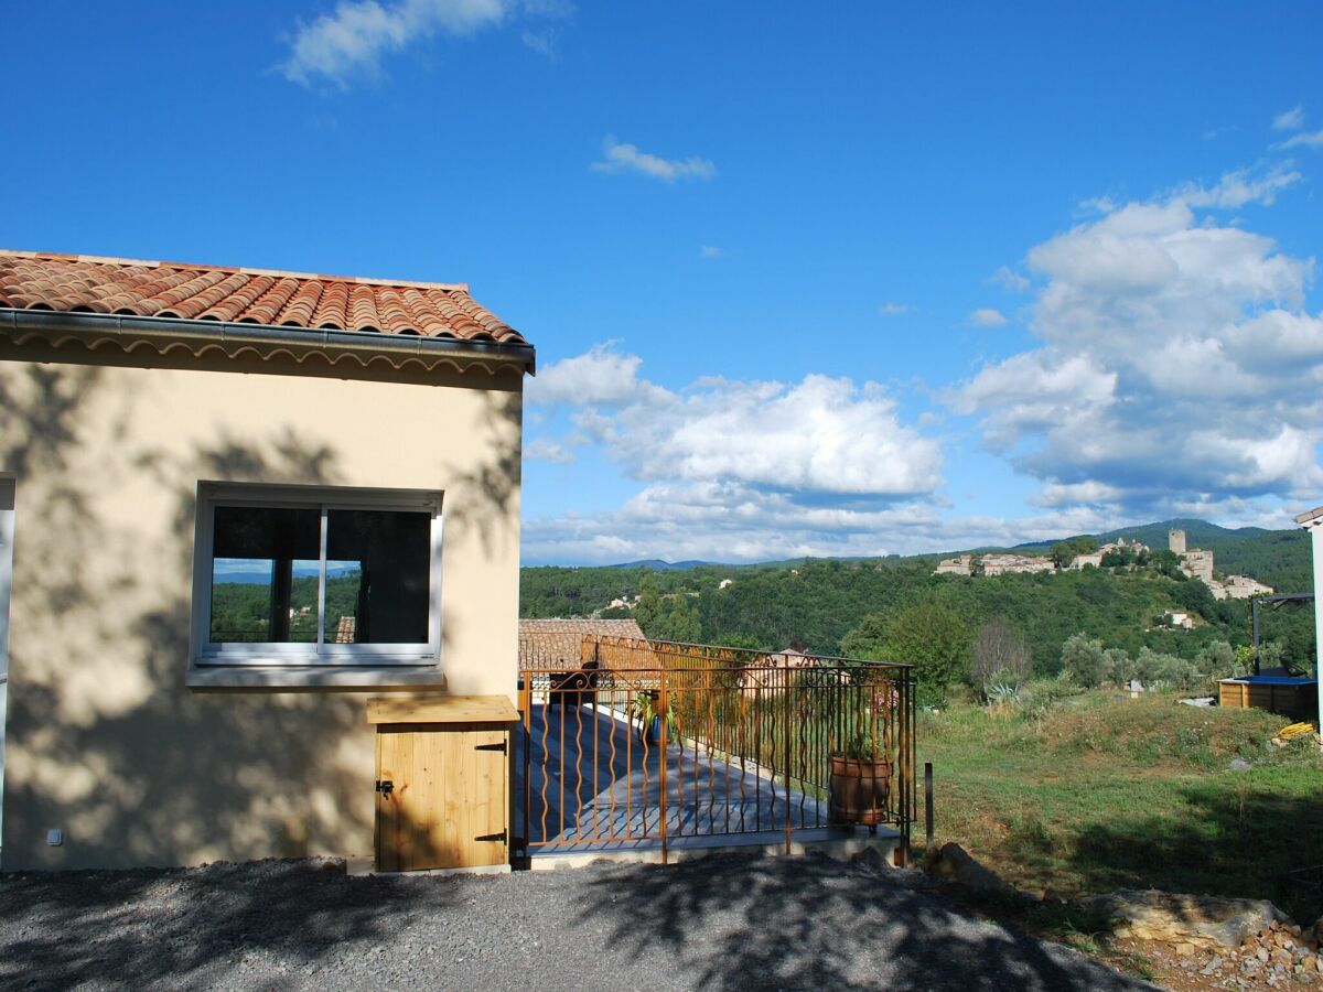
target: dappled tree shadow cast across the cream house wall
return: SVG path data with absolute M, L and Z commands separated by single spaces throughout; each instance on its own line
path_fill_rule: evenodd
M 140 414 L 123 381 L 0 364 L 0 468 L 19 475 L 5 848 L 36 858 L 60 825 L 66 850 L 106 866 L 370 853 L 363 693 L 184 686 L 197 480 L 337 485 L 344 454 L 286 425 L 169 451 L 132 436 Z M 468 509 L 474 525 L 508 508 L 511 458 L 517 431 L 478 470 L 487 483 L 471 499 L 490 507 Z M 151 522 L 147 540 L 116 530 L 101 512 L 105 492 L 143 479 L 143 513 L 167 515 L 168 540 Z

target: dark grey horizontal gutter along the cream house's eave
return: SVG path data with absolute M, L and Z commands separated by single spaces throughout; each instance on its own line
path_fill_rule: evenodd
M 462 341 L 454 337 L 396 335 L 384 331 L 336 331 L 329 328 L 274 327 L 270 324 L 230 323 L 221 320 L 184 320 L 177 317 L 142 317 L 124 313 L 87 313 L 52 310 L 19 310 L 0 307 L 0 328 L 12 331 L 99 332 L 115 337 L 139 337 L 172 341 L 221 341 L 250 345 L 320 347 L 327 352 L 423 356 L 445 353 L 455 358 L 500 365 L 520 365 L 536 373 L 536 351 L 528 344 L 500 341 Z

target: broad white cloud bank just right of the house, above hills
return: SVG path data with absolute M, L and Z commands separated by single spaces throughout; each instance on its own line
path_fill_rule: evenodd
M 901 422 L 880 385 L 810 374 L 672 392 L 639 368 L 607 343 L 534 380 L 548 381 L 531 402 L 574 407 L 572 444 L 593 446 L 644 488 L 611 513 L 531 521 L 531 559 L 876 554 L 888 528 L 935 524 L 941 447 Z M 529 443 L 542 455 L 565 447 Z

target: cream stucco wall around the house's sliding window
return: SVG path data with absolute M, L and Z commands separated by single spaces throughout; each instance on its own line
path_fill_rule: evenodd
M 442 491 L 448 690 L 513 698 L 517 373 L 177 364 L 0 349 L 0 474 L 17 480 L 4 869 L 370 853 L 366 690 L 185 688 L 198 480 Z

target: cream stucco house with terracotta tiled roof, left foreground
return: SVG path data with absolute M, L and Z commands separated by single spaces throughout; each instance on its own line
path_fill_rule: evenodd
M 404 783 L 507 774 L 533 368 L 464 284 L 0 251 L 0 866 L 508 861 Z

